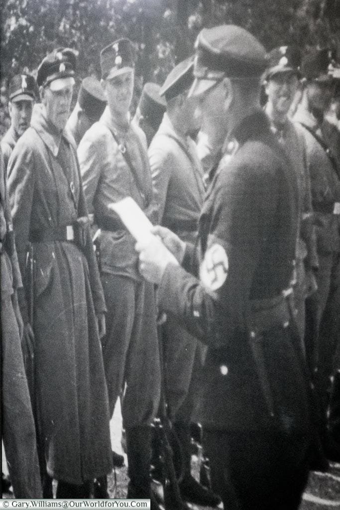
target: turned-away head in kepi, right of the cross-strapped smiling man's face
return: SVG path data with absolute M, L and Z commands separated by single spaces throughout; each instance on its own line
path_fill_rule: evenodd
M 160 127 L 167 104 L 164 97 L 160 96 L 161 86 L 157 83 L 147 82 L 142 90 L 142 95 L 136 109 L 133 123 L 139 125 L 145 133 L 146 142 L 149 146 L 156 131 Z

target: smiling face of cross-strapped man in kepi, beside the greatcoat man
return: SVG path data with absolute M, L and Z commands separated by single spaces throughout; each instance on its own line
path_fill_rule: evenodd
M 134 71 L 117 74 L 103 81 L 108 105 L 113 115 L 125 116 L 130 108 L 134 93 Z

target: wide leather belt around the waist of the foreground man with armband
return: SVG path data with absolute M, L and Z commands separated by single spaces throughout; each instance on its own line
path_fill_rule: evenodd
M 248 327 L 251 338 L 273 327 L 287 327 L 290 320 L 286 293 L 269 299 L 254 299 L 249 303 Z

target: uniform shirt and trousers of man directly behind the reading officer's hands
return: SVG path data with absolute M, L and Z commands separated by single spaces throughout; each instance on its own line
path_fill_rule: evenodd
M 148 155 L 160 224 L 182 240 L 195 242 L 204 196 L 195 143 L 189 136 L 176 132 L 165 113 Z M 175 419 L 190 421 L 197 400 L 197 391 L 190 383 L 193 371 L 202 363 L 205 349 L 176 318 L 168 317 L 163 325 L 163 337 L 169 410 Z

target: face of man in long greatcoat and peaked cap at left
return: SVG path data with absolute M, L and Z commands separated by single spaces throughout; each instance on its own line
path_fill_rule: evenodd
M 67 85 L 60 90 L 51 90 L 49 86 L 41 89 L 41 101 L 47 119 L 58 131 L 63 131 L 70 114 L 73 86 Z

